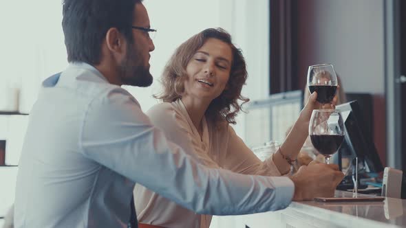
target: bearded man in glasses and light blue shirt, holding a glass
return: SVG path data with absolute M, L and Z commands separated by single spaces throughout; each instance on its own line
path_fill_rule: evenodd
M 134 183 L 200 214 L 266 212 L 333 194 L 342 178 L 335 166 L 290 179 L 246 176 L 204 168 L 167 141 L 120 87 L 152 83 L 149 31 L 140 1 L 63 1 L 70 65 L 43 82 L 30 113 L 15 227 L 127 227 Z

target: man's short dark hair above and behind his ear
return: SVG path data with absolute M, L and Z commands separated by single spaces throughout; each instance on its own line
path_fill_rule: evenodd
M 142 0 L 63 0 L 63 34 L 68 62 L 100 63 L 107 31 L 116 27 L 133 43 L 134 5 Z

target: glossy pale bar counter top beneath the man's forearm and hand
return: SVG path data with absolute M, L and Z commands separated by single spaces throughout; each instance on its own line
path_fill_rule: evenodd
M 351 192 L 336 191 L 336 194 L 352 197 Z M 389 228 L 406 227 L 406 200 L 385 198 L 373 202 L 316 201 L 292 202 L 286 209 L 244 216 L 218 217 L 217 224 L 249 228 L 310 228 L 310 227 L 356 227 Z

